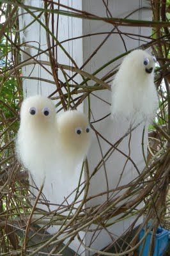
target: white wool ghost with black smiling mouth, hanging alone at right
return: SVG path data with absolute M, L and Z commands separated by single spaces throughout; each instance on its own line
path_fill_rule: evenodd
M 111 114 L 130 124 L 151 122 L 158 108 L 153 82 L 155 57 L 143 50 L 130 52 L 120 65 L 112 83 Z

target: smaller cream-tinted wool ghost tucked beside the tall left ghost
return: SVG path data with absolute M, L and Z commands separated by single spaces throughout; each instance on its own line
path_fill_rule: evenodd
M 62 168 L 74 169 L 88 152 L 91 129 L 88 117 L 77 110 L 61 113 L 56 122 Z

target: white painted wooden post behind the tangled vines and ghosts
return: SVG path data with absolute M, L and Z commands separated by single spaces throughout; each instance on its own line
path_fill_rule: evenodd
M 26 0 L 24 1 L 26 4 L 31 4 L 33 6 L 41 6 L 41 1 L 37 0 Z M 60 3 L 63 4 L 69 4 L 73 8 L 78 8 L 80 10 L 84 10 L 86 12 L 90 12 L 102 17 L 106 16 L 105 7 L 102 2 L 102 0 L 86 0 L 86 1 L 60 1 Z M 134 10 L 137 10 L 142 4 L 142 6 L 146 6 L 144 1 L 135 1 L 135 0 L 109 0 L 109 10 L 111 10 L 113 17 L 125 17 L 129 13 L 131 13 Z M 38 13 L 36 13 L 37 15 Z M 129 17 L 130 19 L 151 19 L 151 12 L 150 10 L 141 10 L 133 13 Z M 20 18 L 20 28 L 23 28 L 29 22 L 31 22 L 33 19 L 29 14 L 23 15 L 23 17 Z M 42 19 L 43 21 L 43 19 Z M 55 19 L 55 26 L 56 27 L 56 19 Z M 97 20 L 81 20 L 81 19 L 75 19 L 72 17 L 66 17 L 66 16 L 59 16 L 59 42 L 62 40 L 66 40 L 67 38 L 72 38 L 75 36 L 81 36 L 86 35 L 89 33 L 101 33 L 106 31 L 111 31 L 112 25 L 106 24 L 104 22 L 100 22 Z M 121 31 L 129 32 L 129 33 L 136 33 L 141 35 L 150 35 L 151 29 L 148 28 L 128 28 L 123 27 L 119 28 Z M 116 30 L 115 30 L 116 31 Z M 45 30 L 40 27 L 40 24 L 38 22 L 35 22 L 33 25 L 31 25 L 29 28 L 24 31 L 24 33 L 20 34 L 22 37 L 22 42 L 27 41 L 36 41 L 40 42 L 40 48 L 46 49 L 47 48 L 47 42 L 45 37 Z M 89 56 L 92 54 L 95 49 L 97 49 L 98 45 L 104 40 L 106 35 L 98 35 L 98 36 L 90 36 L 81 38 L 79 40 L 73 40 L 69 41 L 63 44 L 66 51 L 69 52 L 70 56 L 72 56 L 73 60 L 77 63 L 78 67 L 81 67 L 81 65 L 89 58 Z M 126 36 L 123 36 L 125 43 L 127 45 L 127 49 L 132 49 L 134 47 L 138 47 L 140 45 L 139 40 L 133 40 L 131 38 L 128 38 Z M 137 37 L 136 37 L 137 38 Z M 139 38 L 137 38 L 139 39 Z M 29 42 L 29 45 L 34 45 L 38 47 L 38 44 L 35 42 Z M 37 50 L 30 49 L 28 47 L 24 47 L 25 51 L 27 51 L 29 54 L 34 55 L 37 53 Z M 125 47 L 123 46 L 123 42 L 120 38 L 120 35 L 111 35 L 107 42 L 100 48 L 100 50 L 93 56 L 93 58 L 88 62 L 86 67 L 84 67 L 84 70 L 92 74 L 97 70 L 97 68 L 101 67 L 107 61 L 111 60 L 112 58 L 115 58 L 116 56 L 120 55 L 122 52 L 125 52 Z M 26 60 L 27 56 L 26 54 L 22 55 L 23 60 Z M 43 54 L 40 57 L 41 60 L 49 60 L 49 58 Z M 58 62 L 72 65 L 70 60 L 65 56 L 63 51 L 61 51 L 58 47 Z M 105 68 L 97 74 L 97 77 L 102 77 L 109 70 L 112 70 L 112 68 L 116 67 L 118 63 L 120 63 L 121 60 L 116 61 L 116 63 L 113 63 L 109 67 Z M 50 67 L 46 67 L 48 70 L 50 70 Z M 44 77 L 46 79 L 52 79 L 52 77 L 43 70 L 43 68 L 38 67 L 38 65 L 26 66 L 22 70 L 23 76 L 27 76 L 30 74 L 30 76 L 40 76 Z M 72 72 L 70 72 L 70 76 L 72 76 Z M 63 79 L 63 75 L 61 72 L 59 72 L 59 79 L 65 81 Z M 81 83 L 82 79 L 81 76 L 76 76 L 75 80 L 77 83 Z M 93 83 L 88 83 L 93 84 Z M 38 82 L 35 80 L 24 80 L 24 96 L 29 95 L 35 95 L 37 93 L 43 94 L 43 95 L 49 95 L 51 92 L 54 92 L 56 86 L 52 84 L 47 84 L 44 82 Z M 95 92 L 95 95 L 98 97 L 101 97 L 102 99 L 106 100 L 107 102 L 111 102 L 111 93 L 109 91 L 100 91 Z M 84 105 L 82 106 L 85 113 L 88 111 L 88 102 L 85 101 Z M 95 120 L 98 120 L 102 116 L 107 115 L 110 112 L 109 105 L 105 104 L 105 102 L 102 102 L 101 100 L 97 99 L 93 95 L 91 95 L 91 110 L 93 113 L 93 116 Z M 93 121 L 93 118 L 91 118 L 91 121 Z M 118 140 L 125 132 L 127 132 L 127 125 L 126 124 L 118 124 L 118 122 L 111 122 L 109 118 L 106 118 L 102 122 L 98 122 L 95 125 L 95 128 L 102 133 L 102 135 L 107 138 L 111 143 L 114 143 L 116 140 Z M 132 139 L 130 143 L 130 156 L 137 164 L 139 170 L 142 170 L 144 167 L 144 161 L 143 161 L 143 155 L 141 151 L 141 140 L 142 140 L 142 130 L 143 127 L 139 127 L 132 133 Z M 102 146 L 102 152 L 107 152 L 109 145 L 102 141 L 100 139 L 100 143 Z M 147 137 L 145 135 L 144 137 L 144 148 L 146 152 L 146 143 L 147 143 Z M 123 140 L 119 147 L 125 154 L 128 154 L 128 138 Z M 100 148 L 98 146 L 97 138 L 93 136 L 93 143 L 89 150 L 88 154 L 88 161 L 89 161 L 89 170 L 90 172 L 93 172 L 93 169 L 97 165 L 98 161 L 101 159 L 101 152 Z M 108 161 L 105 163 L 106 170 L 107 170 L 107 177 L 109 180 L 109 189 L 116 188 L 116 185 L 118 184 L 118 180 L 120 179 L 120 173 L 123 169 L 123 165 L 125 164 L 126 158 L 122 156 L 119 152 L 114 152 L 112 156 L 108 159 Z M 81 166 L 77 167 L 77 170 L 75 171 L 74 175 L 72 176 L 72 179 L 70 179 L 70 175 L 68 173 L 68 180 L 62 180 L 62 177 L 52 177 L 49 170 L 49 177 L 47 177 L 47 184 L 45 185 L 45 188 L 43 190 L 43 193 L 47 198 L 50 200 L 50 202 L 55 202 L 56 204 L 60 204 L 64 198 L 64 196 L 68 195 L 70 191 L 72 191 L 73 188 L 77 187 L 77 182 L 79 179 L 79 171 Z M 69 171 L 68 171 L 69 172 Z M 137 172 L 132 165 L 132 163 L 128 162 L 125 171 L 123 173 L 123 177 L 121 179 L 120 185 L 127 184 L 130 182 L 130 180 L 134 179 L 134 177 L 137 176 Z M 83 177 L 85 180 L 86 177 Z M 83 180 L 82 179 L 82 180 Z M 38 182 L 38 180 L 37 180 Z M 100 171 L 91 179 L 90 182 L 90 188 L 89 188 L 89 196 L 96 195 L 97 193 L 100 193 L 102 191 L 106 191 L 106 180 L 104 175 L 104 168 L 100 168 Z M 83 195 L 82 195 L 83 196 Z M 70 198 L 69 202 L 71 202 L 73 199 Z M 102 204 L 106 199 L 105 196 L 95 198 L 94 200 L 91 200 L 88 204 L 86 204 L 86 207 L 90 207 L 92 205 L 98 205 Z M 129 227 L 130 223 L 134 218 L 130 218 L 125 221 L 121 221 L 120 223 L 116 223 L 108 228 L 109 232 L 111 232 L 112 237 L 116 238 L 117 236 L 120 236 L 127 228 Z M 93 226 L 94 228 L 94 226 Z M 50 228 L 50 232 L 54 232 L 57 228 L 53 227 Z M 81 232 L 81 237 L 84 237 L 84 233 Z M 88 246 L 90 244 L 91 248 L 95 248 L 97 250 L 100 250 L 107 246 L 107 244 L 111 243 L 111 236 L 109 236 L 108 232 L 105 230 L 102 230 L 102 232 L 97 232 L 95 234 L 95 241 L 91 244 L 91 237 L 93 234 L 88 232 L 86 234 L 86 237 L 84 239 L 84 243 Z M 79 241 L 75 239 L 71 246 L 73 250 L 77 252 L 77 248 L 79 248 Z M 84 252 L 83 246 L 80 246 L 78 253 L 81 255 L 89 255 L 91 253 Z

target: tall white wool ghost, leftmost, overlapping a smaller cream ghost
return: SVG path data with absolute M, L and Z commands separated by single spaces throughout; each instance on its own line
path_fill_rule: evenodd
M 29 170 L 37 186 L 54 167 L 56 158 L 56 109 L 52 100 L 40 95 L 28 97 L 20 109 L 16 140 L 19 160 Z

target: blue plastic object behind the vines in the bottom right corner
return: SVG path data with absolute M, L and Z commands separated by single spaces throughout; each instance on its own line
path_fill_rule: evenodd
M 144 236 L 144 228 L 141 230 L 139 233 L 139 239 L 141 240 Z M 151 235 L 152 232 L 150 231 L 148 236 L 146 236 L 146 240 L 139 246 L 139 252 L 143 250 L 142 256 L 150 256 L 149 251 L 150 251 L 150 241 L 151 241 Z M 153 253 L 153 256 L 162 256 L 164 255 L 164 252 L 166 251 L 166 248 L 168 246 L 168 238 L 169 238 L 169 231 L 158 227 L 157 229 L 157 234 L 155 234 L 155 250 Z

